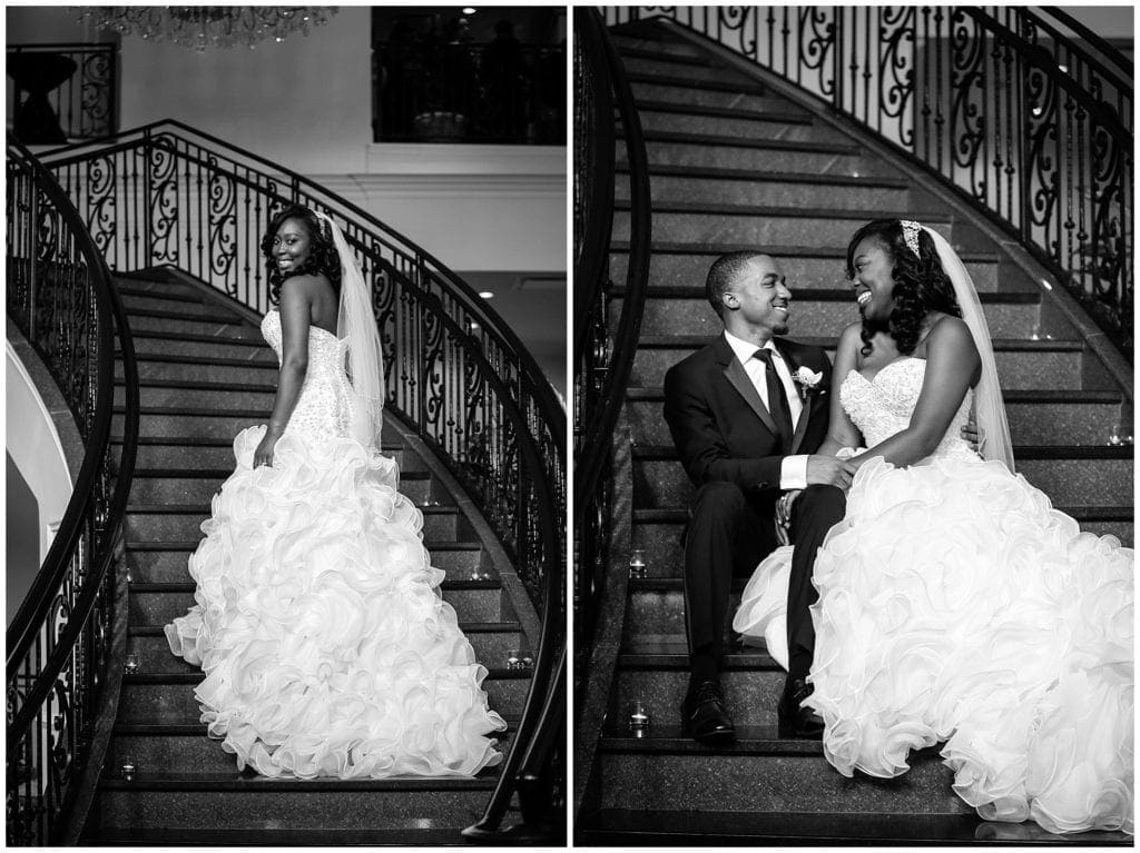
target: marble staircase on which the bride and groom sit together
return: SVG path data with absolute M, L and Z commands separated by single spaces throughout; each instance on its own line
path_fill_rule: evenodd
M 917 219 L 946 236 L 974 276 L 1019 473 L 1083 530 L 1131 544 L 1133 453 L 1130 444 L 1108 444 L 1121 423 L 1131 435 L 1131 386 L 1102 366 L 1086 327 L 1042 289 L 1024 253 L 995 240 L 988 223 L 857 130 L 676 28 L 638 22 L 610 31 L 637 100 L 652 192 L 649 296 L 616 438 L 630 446 L 616 457 L 630 464 L 614 470 L 612 502 L 632 506 L 632 518 L 614 525 L 632 525 L 629 547 L 644 551 L 648 576 L 629 580 L 612 688 L 596 697 L 606 703 L 605 723 L 578 812 L 578 843 L 1060 840 L 1034 825 L 980 821 L 952 792 L 936 749 L 912 755 L 911 771 L 895 780 L 845 779 L 819 741 L 777 737 L 784 673 L 755 647 L 734 647 L 723 673 L 738 743 L 708 747 L 681 736 L 689 674 L 679 536 L 692 485 L 662 417 L 661 385 L 671 364 L 719 334 L 703 294 L 716 256 L 762 247 L 779 259 L 795 296 L 791 337 L 833 355 L 839 330 L 858 319 L 844 280 L 850 235 L 879 216 Z M 614 282 L 625 281 L 628 263 L 627 171 L 619 164 Z M 618 288 L 616 307 L 621 296 Z M 612 565 L 627 557 L 614 555 Z M 734 588 L 733 606 L 742 587 Z M 650 715 L 642 731 L 628 724 L 634 700 Z M 1109 833 L 1080 840 L 1131 843 Z

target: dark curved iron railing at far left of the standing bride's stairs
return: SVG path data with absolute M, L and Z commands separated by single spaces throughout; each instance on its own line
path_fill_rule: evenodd
M 138 395 L 111 440 L 115 331 L 128 388 L 135 361 L 100 253 L 67 196 L 8 140 L 8 315 L 71 408 L 84 456 L 50 550 L 7 633 L 7 840 L 59 843 L 89 768 L 107 680 L 116 543 L 135 470 Z

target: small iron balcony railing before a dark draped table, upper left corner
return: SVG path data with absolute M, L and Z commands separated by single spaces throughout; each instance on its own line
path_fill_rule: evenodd
M 8 116 L 26 145 L 99 139 L 119 130 L 119 46 L 9 44 L 16 98 Z

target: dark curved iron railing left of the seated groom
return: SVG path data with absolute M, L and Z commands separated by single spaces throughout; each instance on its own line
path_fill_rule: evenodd
M 612 436 L 641 330 L 651 236 L 641 120 L 617 50 L 593 9 L 575 10 L 575 680 L 588 675 L 609 564 Z M 610 326 L 614 106 L 630 184 L 629 260 L 621 317 Z M 611 341 L 621 342 L 611 348 Z M 581 697 L 581 690 L 576 690 Z

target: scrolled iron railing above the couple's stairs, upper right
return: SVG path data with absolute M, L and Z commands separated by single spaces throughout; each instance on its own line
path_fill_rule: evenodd
M 1131 358 L 1131 75 L 1035 8 L 610 7 L 606 22 L 671 18 L 879 133 L 1048 264 Z

